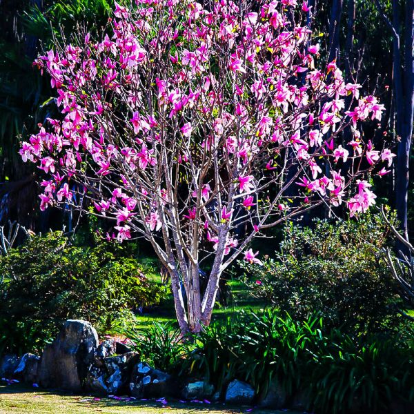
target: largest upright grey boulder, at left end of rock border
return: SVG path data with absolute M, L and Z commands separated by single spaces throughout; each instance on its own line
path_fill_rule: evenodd
M 43 351 L 39 384 L 45 388 L 81 391 L 97 346 L 97 331 L 89 322 L 66 321 L 55 341 Z

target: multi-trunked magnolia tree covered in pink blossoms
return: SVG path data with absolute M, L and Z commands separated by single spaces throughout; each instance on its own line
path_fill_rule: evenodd
M 259 263 L 255 237 L 316 206 L 363 213 L 375 204 L 364 177 L 391 164 L 359 132 L 383 106 L 335 62 L 315 68 L 309 12 L 296 0 L 137 0 L 116 4 L 101 39 L 78 35 L 35 62 L 62 113 L 20 151 L 48 175 L 41 209 L 72 204 L 112 219 L 119 242 L 148 239 L 183 333 L 209 324 L 237 256 Z

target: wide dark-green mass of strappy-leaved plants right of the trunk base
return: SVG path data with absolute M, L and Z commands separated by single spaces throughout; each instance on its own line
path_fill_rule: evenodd
M 297 321 L 265 311 L 212 324 L 195 341 L 185 367 L 223 395 L 238 378 L 266 395 L 275 381 L 287 404 L 299 394 L 317 413 L 377 413 L 414 401 L 414 349 L 382 336 L 352 337 L 323 319 Z

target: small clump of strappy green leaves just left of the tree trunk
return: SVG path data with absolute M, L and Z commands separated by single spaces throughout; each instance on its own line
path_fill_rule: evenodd
M 171 373 L 185 354 L 184 343 L 177 324 L 153 322 L 149 328 L 130 328 L 123 333 L 132 342 L 130 347 L 139 351 L 141 358 L 161 371 Z

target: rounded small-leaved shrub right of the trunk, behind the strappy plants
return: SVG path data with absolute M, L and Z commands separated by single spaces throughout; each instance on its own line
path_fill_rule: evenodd
M 380 215 L 316 220 L 313 228 L 290 223 L 275 259 L 263 266 L 242 264 L 244 282 L 253 295 L 295 319 L 317 311 L 342 331 L 375 332 L 392 325 L 398 300 L 381 252 L 387 237 Z

